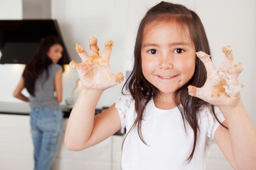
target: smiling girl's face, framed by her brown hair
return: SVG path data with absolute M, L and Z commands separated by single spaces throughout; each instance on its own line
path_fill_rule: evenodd
M 143 30 L 141 60 L 145 79 L 160 94 L 173 96 L 194 74 L 195 47 L 188 31 L 175 22 L 148 23 Z

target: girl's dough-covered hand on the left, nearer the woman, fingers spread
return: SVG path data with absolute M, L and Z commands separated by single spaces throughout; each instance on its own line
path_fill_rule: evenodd
M 88 56 L 82 45 L 76 43 L 76 51 L 82 59 L 81 63 L 70 62 L 70 67 L 75 68 L 80 80 L 87 89 L 105 90 L 124 80 L 122 72 L 114 75 L 109 67 L 109 58 L 113 46 L 113 41 L 108 40 L 102 56 L 99 56 L 97 39 L 90 37 L 91 56 Z

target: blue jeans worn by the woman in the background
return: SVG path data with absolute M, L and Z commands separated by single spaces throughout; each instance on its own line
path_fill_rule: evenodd
M 50 170 L 62 135 L 63 113 L 60 108 L 32 108 L 31 133 L 35 170 Z

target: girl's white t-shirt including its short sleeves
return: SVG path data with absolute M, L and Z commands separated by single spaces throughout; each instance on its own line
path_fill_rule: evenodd
M 121 95 L 116 100 L 122 128 L 126 133 L 131 129 L 137 113 L 131 95 Z M 137 126 L 125 139 L 122 150 L 122 170 L 205 170 L 209 150 L 214 142 L 214 133 L 219 123 L 208 108 L 199 113 L 198 134 L 195 153 L 187 164 L 194 141 L 194 133 L 189 125 L 185 132 L 179 109 L 163 110 L 156 108 L 153 99 L 145 108 L 141 130 L 145 145 L 137 132 Z M 215 107 L 215 114 L 220 122 L 222 113 Z

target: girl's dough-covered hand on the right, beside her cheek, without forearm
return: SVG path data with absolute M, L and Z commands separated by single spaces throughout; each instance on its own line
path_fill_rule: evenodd
M 189 85 L 189 95 L 219 108 L 235 108 L 239 105 L 240 91 L 244 87 L 237 81 L 243 67 L 241 62 L 232 66 L 233 54 L 230 46 L 225 46 L 222 51 L 225 53 L 226 59 L 218 69 L 214 67 L 208 54 L 202 51 L 196 53 L 207 70 L 207 80 L 201 88 Z

